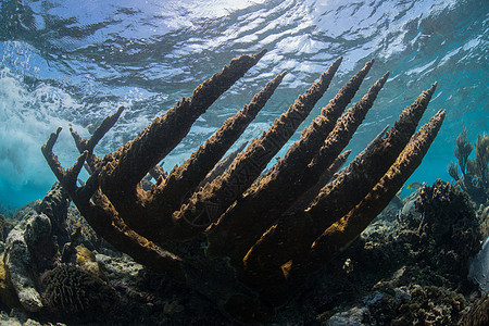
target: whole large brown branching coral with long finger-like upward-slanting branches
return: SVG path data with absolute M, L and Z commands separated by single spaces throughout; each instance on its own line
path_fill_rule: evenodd
M 93 148 L 123 108 L 88 140 L 72 130 L 82 155 L 71 168 L 64 170 L 52 152 L 61 128 L 42 147 L 63 189 L 96 233 L 137 262 L 224 302 L 224 310 L 243 322 L 273 316 L 274 306 L 284 304 L 310 274 L 348 248 L 421 164 L 444 118 L 444 111 L 439 111 L 415 133 L 435 92 L 434 84 L 390 130 L 384 130 L 327 184 L 323 175 L 331 175 L 331 166 L 343 160 L 341 152 L 387 80 L 385 74 L 342 114 L 371 70 L 371 61 L 322 109 L 285 158 L 262 175 L 326 91 L 340 58 L 224 173 L 199 187 L 285 73 L 225 121 L 187 162 L 166 177 L 158 173 L 156 183 L 143 190 L 142 178 L 264 53 L 233 60 L 190 98 L 181 99 L 103 159 L 93 154 Z M 78 187 L 84 165 L 90 176 Z M 304 202 L 305 195 L 312 200 Z

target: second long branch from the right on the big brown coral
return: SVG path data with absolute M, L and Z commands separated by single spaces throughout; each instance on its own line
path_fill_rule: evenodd
M 260 268 L 275 271 L 291 259 L 302 255 L 327 227 L 353 209 L 405 147 L 428 105 L 435 87 L 434 84 L 403 111 L 399 122 L 385 138 L 376 137 L 367 150 L 355 158 L 333 183 L 324 187 L 306 211 L 284 216 L 277 226 L 264 234 L 247 254 L 248 268 L 259 268 L 251 266 L 261 261 Z M 294 241 L 290 241 L 292 238 Z M 271 259 L 260 260 L 271 252 L 274 252 Z

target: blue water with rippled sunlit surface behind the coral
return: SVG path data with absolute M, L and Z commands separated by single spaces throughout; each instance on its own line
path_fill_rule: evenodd
M 67 167 L 77 156 L 70 125 L 87 137 L 104 116 L 127 106 L 96 149 L 103 155 L 233 58 L 263 48 L 268 52 L 260 63 L 164 160 L 166 170 L 184 162 L 226 117 L 287 70 L 239 142 L 261 135 L 339 55 L 344 57 L 341 67 L 310 120 L 365 61 L 376 60 L 359 93 L 391 73 L 349 145 L 353 154 L 436 80 L 438 90 L 422 122 L 439 109 L 448 115 L 410 181 L 450 180 L 447 166 L 455 160 L 453 146 L 462 128 L 468 128 L 473 142 L 489 129 L 487 0 L 0 1 L 2 210 L 43 197 L 54 181 L 40 147 L 58 126 L 64 130 L 54 151 Z

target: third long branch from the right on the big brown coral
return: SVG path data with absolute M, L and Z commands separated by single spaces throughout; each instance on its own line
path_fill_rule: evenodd
M 323 141 L 324 146 L 312 162 L 301 160 L 296 155 L 297 151 L 292 155 L 286 155 L 280 162 L 281 165 L 275 168 L 275 173 L 265 177 L 259 187 L 251 193 L 247 193 L 226 212 L 218 225 L 222 231 L 210 236 L 210 239 L 218 238 L 223 244 L 223 251 L 231 258 L 231 261 L 241 261 L 251 246 L 277 222 L 277 216 L 286 212 L 300 196 L 317 184 L 322 174 L 340 154 L 362 123 L 387 80 L 387 76 L 388 74 L 384 75 L 368 93 L 342 116 L 328 135 L 326 142 Z M 314 152 L 317 152 L 317 149 Z M 293 181 L 290 183 L 290 179 Z M 228 223 L 223 225 L 226 216 L 229 216 Z M 210 248 L 214 243 L 211 242 Z

